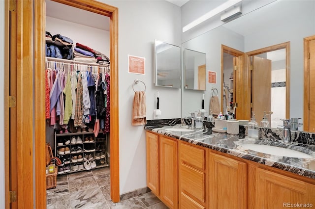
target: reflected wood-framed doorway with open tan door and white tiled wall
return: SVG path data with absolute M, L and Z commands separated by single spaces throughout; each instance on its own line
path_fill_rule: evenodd
M 282 125 L 280 119 L 290 118 L 290 42 L 246 53 L 252 85 L 251 111 L 258 123 L 264 111 L 274 112 L 267 118 L 269 127 L 276 128 Z

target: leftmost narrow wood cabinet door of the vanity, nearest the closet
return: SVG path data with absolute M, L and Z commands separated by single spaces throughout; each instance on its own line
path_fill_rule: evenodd
M 147 132 L 147 185 L 159 195 L 159 140 L 158 135 Z

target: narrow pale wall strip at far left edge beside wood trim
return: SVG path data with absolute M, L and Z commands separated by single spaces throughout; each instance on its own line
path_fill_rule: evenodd
M 0 0 L 0 69 L 4 69 L 4 0 Z M 0 114 L 4 115 L 4 70 L 0 71 Z M 4 188 L 4 117 L 0 118 L 0 208 L 5 208 Z

